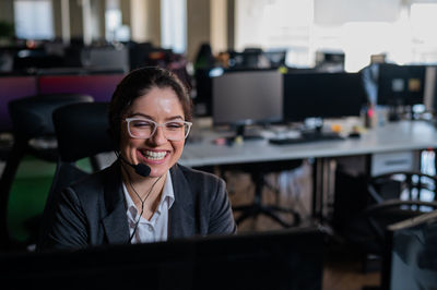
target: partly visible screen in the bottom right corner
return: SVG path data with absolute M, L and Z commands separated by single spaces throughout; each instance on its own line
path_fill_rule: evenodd
M 435 289 L 437 210 L 392 225 L 387 235 L 381 289 Z

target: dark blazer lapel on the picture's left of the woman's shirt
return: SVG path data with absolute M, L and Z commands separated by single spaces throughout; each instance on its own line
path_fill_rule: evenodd
M 106 215 L 103 215 L 102 223 L 106 239 L 110 244 L 127 243 L 129 240 L 129 226 L 119 168 L 118 161 L 111 165 L 109 173 L 106 176 L 104 189 Z

